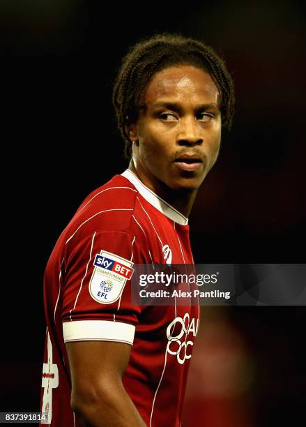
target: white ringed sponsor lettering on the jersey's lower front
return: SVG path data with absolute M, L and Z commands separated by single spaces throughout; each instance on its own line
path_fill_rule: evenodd
M 194 317 L 185 313 L 184 318 L 176 317 L 167 327 L 167 352 L 176 356 L 179 364 L 183 365 L 186 359 L 190 359 L 193 341 L 192 337 L 197 335 L 199 319 L 197 324 Z M 191 339 L 190 339 L 191 338 Z

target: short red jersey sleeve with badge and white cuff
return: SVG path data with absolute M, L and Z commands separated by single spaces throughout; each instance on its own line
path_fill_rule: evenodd
M 64 341 L 132 345 L 141 307 L 131 303 L 133 264 L 146 262 L 129 232 L 94 232 L 71 246 L 62 269 Z

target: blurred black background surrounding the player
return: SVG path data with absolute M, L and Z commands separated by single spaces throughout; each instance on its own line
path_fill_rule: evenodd
M 305 23 L 298 1 L 1 1 L 8 274 L 1 298 L 0 411 L 39 410 L 43 271 L 80 202 L 127 166 L 111 92 L 121 58 L 139 38 L 174 31 L 204 40 L 234 78 L 234 126 L 222 137 L 220 158 L 190 216 L 195 261 L 303 262 Z M 239 397 L 237 411 L 247 413 L 242 424 L 229 414 L 207 425 L 265 427 L 305 419 L 305 307 L 213 313 L 204 313 L 204 320 L 221 319 L 240 337 L 253 379 Z M 224 344 L 227 334 L 220 337 Z M 203 415 L 197 423 L 208 421 Z

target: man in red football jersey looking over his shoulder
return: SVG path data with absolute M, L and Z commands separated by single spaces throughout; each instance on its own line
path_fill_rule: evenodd
M 130 165 L 93 191 L 45 271 L 42 412 L 52 426 L 180 426 L 199 307 L 134 306 L 132 265 L 191 264 L 188 215 L 234 93 L 203 43 L 139 43 L 114 85 Z

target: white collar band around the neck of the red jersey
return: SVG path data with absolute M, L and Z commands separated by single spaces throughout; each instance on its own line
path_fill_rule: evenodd
M 188 224 L 188 218 L 183 216 L 181 212 L 178 212 L 174 207 L 171 207 L 171 205 L 165 200 L 162 200 L 158 195 L 153 193 L 150 188 L 144 186 L 144 184 L 136 177 L 136 175 L 130 170 L 125 170 L 122 174 L 122 177 L 125 177 L 128 179 L 135 188 L 137 188 L 138 192 L 146 199 L 147 202 L 151 203 L 153 207 L 158 209 L 158 211 L 164 213 L 165 216 L 170 218 L 171 220 L 174 220 L 176 223 L 181 225 L 187 225 Z

